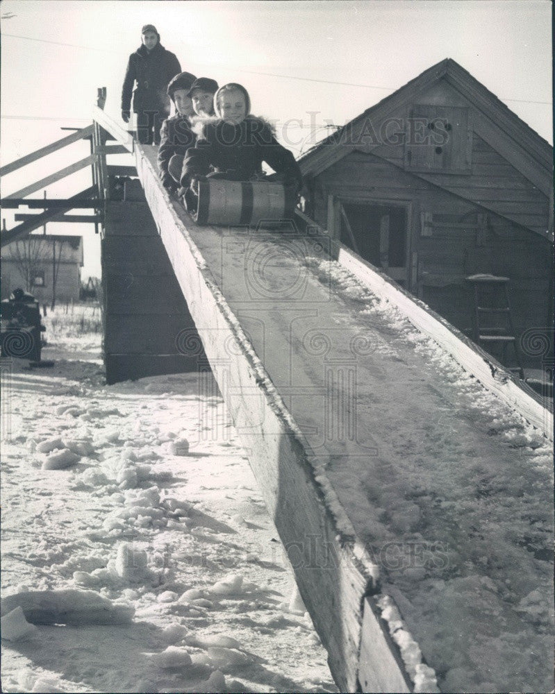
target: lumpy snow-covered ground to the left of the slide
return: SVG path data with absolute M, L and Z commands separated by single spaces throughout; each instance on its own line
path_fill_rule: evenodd
M 44 322 L 52 368 L 1 364 L 2 691 L 336 691 L 210 375 L 106 387 Z

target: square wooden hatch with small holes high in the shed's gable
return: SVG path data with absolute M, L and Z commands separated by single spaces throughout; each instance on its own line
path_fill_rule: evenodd
M 415 105 L 406 123 L 406 171 L 472 172 L 472 128 L 467 108 Z

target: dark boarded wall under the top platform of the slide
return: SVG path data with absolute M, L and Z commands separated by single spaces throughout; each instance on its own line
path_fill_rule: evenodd
M 194 323 L 149 206 L 107 201 L 104 230 L 106 380 L 197 370 L 179 342 Z

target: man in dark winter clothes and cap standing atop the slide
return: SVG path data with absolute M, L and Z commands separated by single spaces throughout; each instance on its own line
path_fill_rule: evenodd
M 160 128 L 169 116 L 167 85 L 181 72 L 174 53 L 160 44 L 160 34 L 153 24 L 145 24 L 142 43 L 129 56 L 122 87 L 122 119 L 129 123 L 131 96 L 137 114 L 137 138 L 143 144 L 160 144 Z M 133 85 L 136 87 L 133 91 Z

